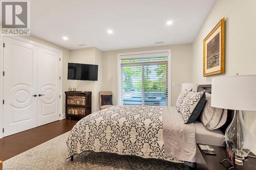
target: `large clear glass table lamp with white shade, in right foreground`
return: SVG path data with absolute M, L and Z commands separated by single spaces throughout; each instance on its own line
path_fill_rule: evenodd
M 256 75 L 213 78 L 211 106 L 234 110 L 225 141 L 236 157 L 247 157 L 253 148 L 253 138 L 245 126 L 242 111 L 256 111 Z

